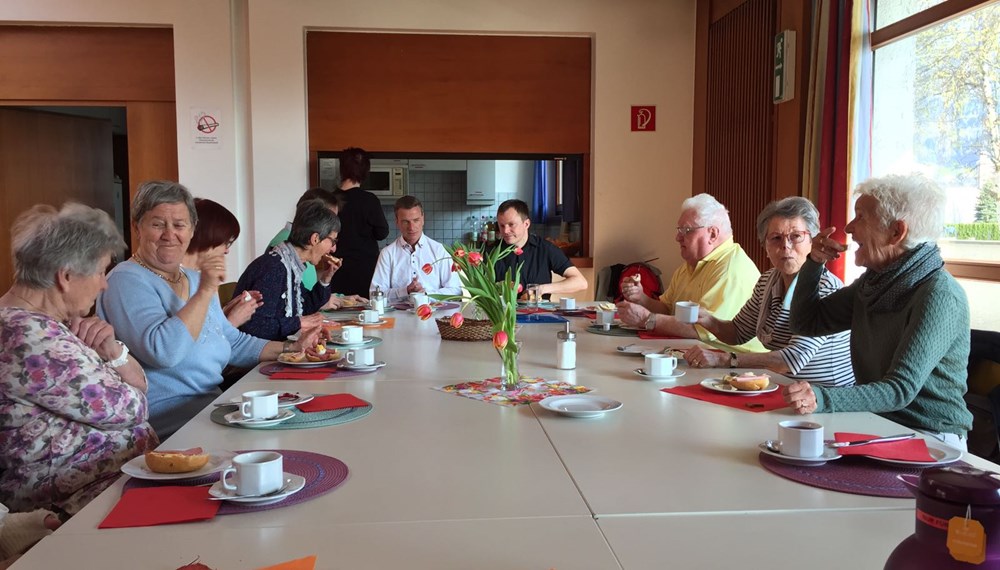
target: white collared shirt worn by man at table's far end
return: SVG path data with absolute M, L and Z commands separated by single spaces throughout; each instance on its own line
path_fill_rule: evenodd
M 430 275 L 423 271 L 427 263 L 431 264 Z M 462 283 L 451 270 L 451 263 L 444 246 L 426 235 L 420 234 L 412 247 L 399 236 L 379 253 L 369 290 L 381 287 L 392 303 L 409 295 L 406 287 L 416 277 L 428 294 L 458 296 L 462 294 Z

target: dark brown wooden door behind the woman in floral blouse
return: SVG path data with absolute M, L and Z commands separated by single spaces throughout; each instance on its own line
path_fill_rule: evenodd
M 111 123 L 0 108 L 0 291 L 14 273 L 10 228 L 35 204 L 72 200 L 114 216 Z

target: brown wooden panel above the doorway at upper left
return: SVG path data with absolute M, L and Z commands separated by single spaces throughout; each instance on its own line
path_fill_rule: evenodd
M 169 28 L 0 26 L 0 99 L 173 101 Z

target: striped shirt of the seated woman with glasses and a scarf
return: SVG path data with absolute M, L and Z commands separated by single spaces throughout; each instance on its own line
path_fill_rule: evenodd
M 781 355 L 789 372 L 785 375 L 819 386 L 851 386 L 854 369 L 851 366 L 851 333 L 843 331 L 827 336 L 792 334 L 789 316 L 796 277 L 781 293 L 781 273 L 771 269 L 760 276 L 753 295 L 733 319 L 737 342 L 757 337 L 768 349 Z M 819 295 L 826 297 L 844 284 L 825 268 L 819 282 Z

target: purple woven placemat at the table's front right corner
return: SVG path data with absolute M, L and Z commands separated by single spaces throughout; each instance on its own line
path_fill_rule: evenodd
M 913 493 L 910 493 L 906 485 L 903 485 L 896 476 L 919 475 L 923 471 L 922 467 L 903 467 L 855 456 L 841 457 L 816 467 L 782 463 L 766 453 L 761 453 L 758 459 L 764 469 L 771 473 L 811 487 L 896 499 L 913 498 Z M 968 464 L 959 461 L 953 465 Z

